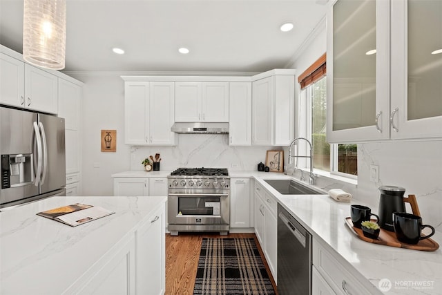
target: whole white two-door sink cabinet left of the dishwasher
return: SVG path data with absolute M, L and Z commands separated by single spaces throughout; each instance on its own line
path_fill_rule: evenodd
M 275 282 L 277 281 L 278 220 L 277 202 L 260 184 L 255 183 L 255 234 Z

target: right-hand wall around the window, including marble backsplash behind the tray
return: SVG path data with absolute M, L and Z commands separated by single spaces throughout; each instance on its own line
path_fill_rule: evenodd
M 291 68 L 296 68 L 298 74 L 302 73 L 316 59 L 326 52 L 325 26 L 318 28 L 316 36 L 309 40 L 305 49 Z M 296 106 L 302 108 L 300 89 L 296 89 Z M 305 113 L 299 113 L 296 122 L 297 134 L 306 128 Z M 299 120 L 301 118 L 301 120 Z M 304 151 L 305 152 L 305 151 Z M 287 155 L 288 149 L 285 148 Z M 287 159 L 286 159 L 287 162 Z M 369 166 L 379 166 L 379 182 L 371 182 Z M 296 173 L 299 177 L 300 173 Z M 369 204 L 374 213 L 378 211 L 380 193 L 378 187 L 394 185 L 404 187 L 405 195 L 416 195 L 423 216 L 423 222 L 434 225 L 436 230 L 442 230 L 442 141 L 409 141 L 374 142 L 358 144 L 358 184 L 349 184 L 340 180 L 320 177 L 317 184 L 325 189 L 342 188 L 352 193 L 355 202 Z

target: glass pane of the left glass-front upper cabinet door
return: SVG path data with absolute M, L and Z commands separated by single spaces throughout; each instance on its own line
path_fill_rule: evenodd
M 373 126 L 376 114 L 376 1 L 333 7 L 333 130 Z

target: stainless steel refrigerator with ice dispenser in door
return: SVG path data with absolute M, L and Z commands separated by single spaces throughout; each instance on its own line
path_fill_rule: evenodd
M 66 196 L 64 119 L 0 107 L 0 208 Z

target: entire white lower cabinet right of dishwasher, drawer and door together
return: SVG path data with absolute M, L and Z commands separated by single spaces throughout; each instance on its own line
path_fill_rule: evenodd
M 312 290 L 316 294 L 382 294 L 368 280 L 366 284 L 351 274 L 351 266 L 345 266 L 338 261 L 331 251 L 325 249 L 320 242 L 313 239 L 313 269 L 316 278 L 313 279 Z M 336 254 L 338 255 L 338 254 Z M 354 269 L 354 272 L 357 272 Z M 366 280 L 364 278 L 364 280 Z

